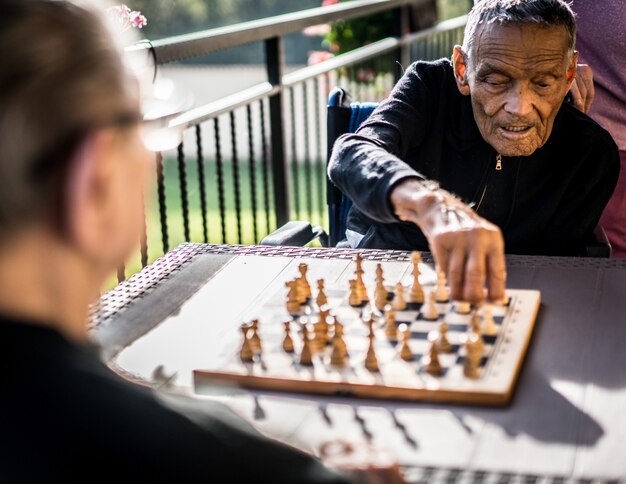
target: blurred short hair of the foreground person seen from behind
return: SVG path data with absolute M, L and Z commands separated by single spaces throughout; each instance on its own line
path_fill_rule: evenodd
M 3 0 L 0 46 L 1 239 L 62 216 L 72 153 L 56 152 L 68 135 L 138 108 L 137 86 L 101 10 Z

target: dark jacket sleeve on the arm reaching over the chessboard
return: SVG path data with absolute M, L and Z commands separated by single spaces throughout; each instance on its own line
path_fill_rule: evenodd
M 344 134 L 333 148 L 328 176 L 361 212 L 382 223 L 397 222 L 389 200 L 407 178 L 423 178 L 402 161 L 424 139 L 432 92 L 424 69 L 412 64 L 356 133 Z

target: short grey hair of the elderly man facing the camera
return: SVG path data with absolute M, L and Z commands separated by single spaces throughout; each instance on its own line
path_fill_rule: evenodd
M 463 50 L 469 55 L 474 47 L 479 27 L 484 24 L 536 24 L 546 27 L 565 27 L 569 50 L 576 47 L 576 20 L 564 0 L 475 0 L 469 13 Z

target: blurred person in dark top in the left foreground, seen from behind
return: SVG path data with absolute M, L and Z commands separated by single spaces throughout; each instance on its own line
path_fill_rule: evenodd
M 137 79 L 66 1 L 2 0 L 0 49 L 0 482 L 345 482 L 99 361 L 88 304 L 138 240 L 151 160 Z

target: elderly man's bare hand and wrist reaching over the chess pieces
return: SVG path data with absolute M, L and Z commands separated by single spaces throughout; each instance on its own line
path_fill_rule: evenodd
M 444 190 L 415 179 L 399 183 L 391 203 L 400 220 L 413 222 L 428 239 L 455 300 L 480 302 L 485 283 L 491 301 L 505 294 L 506 266 L 500 229 Z

